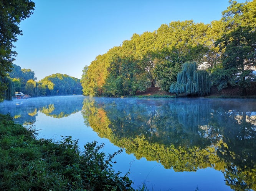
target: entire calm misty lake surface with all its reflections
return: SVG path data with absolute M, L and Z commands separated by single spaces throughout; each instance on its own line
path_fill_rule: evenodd
M 256 190 L 255 99 L 41 97 L 0 103 L 38 138 L 63 136 L 124 150 L 113 168 L 134 188 Z

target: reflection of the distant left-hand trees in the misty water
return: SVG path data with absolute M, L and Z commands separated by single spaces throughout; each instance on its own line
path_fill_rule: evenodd
M 15 100 L 0 105 L 0 111 L 2 114 L 10 113 L 17 123 L 23 124 L 36 121 L 38 111 L 54 118 L 68 117 L 82 109 L 83 99 L 82 96 L 41 97 L 27 99 L 22 104 Z

